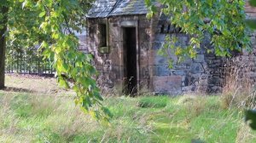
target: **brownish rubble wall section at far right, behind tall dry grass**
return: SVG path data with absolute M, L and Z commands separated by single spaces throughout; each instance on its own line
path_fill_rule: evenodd
M 247 19 L 256 19 L 256 8 L 246 2 L 245 11 Z M 237 88 L 247 89 L 256 83 L 256 31 L 251 31 L 252 53 L 245 49 L 232 58 L 223 59 L 224 86 L 228 84 L 237 84 Z M 233 74 L 233 75 L 232 75 Z M 229 81 L 231 77 L 231 82 Z

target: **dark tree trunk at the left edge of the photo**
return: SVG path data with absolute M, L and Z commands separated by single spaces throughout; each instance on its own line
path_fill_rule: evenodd
M 3 14 L 3 19 L 0 20 L 0 25 L 3 26 L 3 28 L 0 29 L 0 89 L 3 89 L 4 88 L 5 49 L 6 49 L 5 33 L 7 31 L 8 8 L 6 6 L 0 7 L 0 14 Z

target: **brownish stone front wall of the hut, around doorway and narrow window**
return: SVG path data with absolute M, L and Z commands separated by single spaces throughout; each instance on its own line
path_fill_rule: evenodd
M 121 86 L 124 82 L 124 60 L 123 60 L 123 29 L 122 27 L 136 27 L 137 29 L 137 54 L 138 54 L 138 83 L 141 89 L 149 89 L 148 71 L 148 49 L 150 44 L 150 20 L 145 15 L 115 16 L 108 19 L 90 19 L 89 36 L 86 45 L 89 45 L 90 52 L 95 53 L 96 69 L 100 72 L 98 83 L 102 89 L 113 89 L 113 86 Z M 110 48 L 109 53 L 101 54 L 99 48 L 99 27 L 98 24 L 108 22 Z

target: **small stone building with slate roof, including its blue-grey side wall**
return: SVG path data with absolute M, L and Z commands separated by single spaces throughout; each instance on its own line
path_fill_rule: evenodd
M 165 16 L 148 20 L 147 12 L 144 0 L 97 0 L 90 9 L 80 49 L 94 54 L 102 89 L 119 86 L 127 94 L 140 89 L 156 94 L 220 91 L 224 60 L 201 50 L 195 60 L 185 60 L 169 69 L 166 58 L 157 54 L 166 35 L 178 36 L 181 44 L 188 44 L 189 36 L 170 25 Z M 210 46 L 207 38 L 201 45 L 202 49 Z M 254 57 L 247 57 L 254 62 Z

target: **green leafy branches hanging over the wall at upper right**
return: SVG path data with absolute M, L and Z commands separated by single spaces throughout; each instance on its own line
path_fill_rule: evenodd
M 248 37 L 245 1 L 241 0 L 157 0 L 161 12 L 169 15 L 172 25 L 182 27 L 182 31 L 190 36 L 187 47 L 172 46 L 177 37 L 169 38 L 160 49 L 160 54 L 167 56 L 167 50 L 173 49 L 179 60 L 184 57 L 195 58 L 197 50 L 206 33 L 211 36 L 211 47 L 204 47 L 208 52 L 218 56 L 230 56 L 232 51 L 247 49 L 251 51 Z M 146 0 L 152 16 L 157 9 L 154 0 Z M 172 60 L 171 60 L 172 61 Z

